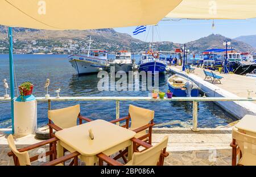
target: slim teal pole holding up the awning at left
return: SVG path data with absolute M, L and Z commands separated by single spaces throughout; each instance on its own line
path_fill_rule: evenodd
M 11 90 L 11 129 L 14 134 L 14 67 L 13 67 L 13 32 L 8 28 L 9 38 L 9 66 L 10 66 L 10 90 Z

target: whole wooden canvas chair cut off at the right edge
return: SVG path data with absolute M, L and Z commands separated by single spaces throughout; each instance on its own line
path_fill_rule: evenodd
M 232 129 L 232 165 L 256 165 L 256 137 Z M 237 162 L 238 156 L 238 162 Z

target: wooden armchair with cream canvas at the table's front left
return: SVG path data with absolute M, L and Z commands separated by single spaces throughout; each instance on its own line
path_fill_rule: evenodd
M 27 166 L 27 165 L 31 165 L 31 162 L 37 161 L 39 155 L 35 155 L 33 157 L 30 157 L 28 155 L 28 150 L 33 150 L 35 148 L 47 145 L 52 143 L 53 144 L 53 149 L 50 149 L 49 151 L 46 152 L 46 156 L 48 155 L 53 155 L 54 160 L 48 163 L 43 163 L 42 165 L 62 165 L 62 162 L 68 161 L 69 159 L 72 159 L 72 162 L 69 165 L 78 165 L 78 155 L 80 155 L 77 152 L 65 155 L 64 157 L 58 158 L 56 159 L 56 141 L 58 139 L 55 138 L 51 138 L 49 140 L 46 141 L 42 141 L 42 142 L 38 142 L 34 145 L 30 145 L 27 147 L 23 147 L 21 149 L 16 149 L 15 143 L 14 143 L 14 138 L 13 135 L 10 134 L 7 137 L 7 141 L 9 144 L 9 147 L 11 149 L 11 151 L 8 153 L 9 157 L 13 156 L 13 160 L 14 160 L 14 165 L 15 166 Z

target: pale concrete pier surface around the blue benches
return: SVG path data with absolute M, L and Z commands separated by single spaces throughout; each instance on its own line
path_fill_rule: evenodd
M 170 68 L 179 69 L 182 70 L 182 66 L 169 66 Z M 196 67 L 193 67 L 196 68 Z M 207 70 L 212 71 L 212 70 Z M 217 75 L 222 76 L 221 84 L 214 83 L 217 87 L 220 87 L 226 91 L 231 92 L 232 94 L 235 94 L 237 96 L 246 98 L 248 96 L 247 90 L 253 91 L 250 93 L 251 97 L 256 97 L 256 79 L 246 77 L 243 75 L 237 75 L 237 74 L 220 74 L 217 71 L 213 71 L 213 73 L 216 73 Z M 197 75 L 198 77 L 204 79 L 205 74 L 203 69 L 196 68 L 195 73 L 189 73 Z M 208 81 L 212 83 L 211 81 Z M 242 87 L 241 87 L 242 86 Z

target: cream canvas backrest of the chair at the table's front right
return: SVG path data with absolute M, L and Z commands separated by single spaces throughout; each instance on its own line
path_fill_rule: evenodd
M 165 136 L 162 141 L 160 141 L 155 146 L 142 151 L 141 153 L 134 153 L 133 159 L 131 160 L 131 165 L 134 166 L 155 166 L 158 164 L 160 154 L 162 150 L 167 147 L 168 136 Z

